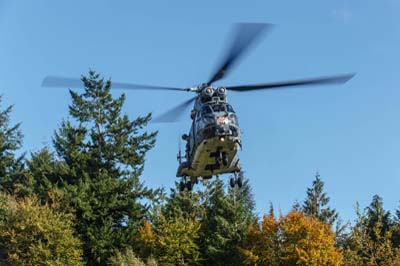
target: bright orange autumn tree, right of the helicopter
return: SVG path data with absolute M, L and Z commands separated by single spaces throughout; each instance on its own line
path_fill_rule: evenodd
M 251 226 L 241 249 L 247 265 L 341 265 L 331 227 L 292 211 L 275 219 L 265 215 L 260 227 Z

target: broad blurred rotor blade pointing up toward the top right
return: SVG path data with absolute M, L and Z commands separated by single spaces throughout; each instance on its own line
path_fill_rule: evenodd
M 254 43 L 262 33 L 265 33 L 266 30 L 272 27 L 272 24 L 267 23 L 236 24 L 232 33 L 233 38 L 230 40 L 230 48 L 207 84 L 211 85 L 213 82 L 222 79 L 240 56 L 248 50 L 249 46 Z

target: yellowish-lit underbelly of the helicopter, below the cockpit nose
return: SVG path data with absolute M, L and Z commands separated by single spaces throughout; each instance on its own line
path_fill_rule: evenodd
M 213 137 L 201 141 L 196 147 L 191 165 L 179 167 L 177 176 L 209 177 L 224 173 L 240 171 L 239 160 L 236 156 L 240 147 L 238 137 Z M 216 163 L 216 157 L 223 155 L 224 163 Z

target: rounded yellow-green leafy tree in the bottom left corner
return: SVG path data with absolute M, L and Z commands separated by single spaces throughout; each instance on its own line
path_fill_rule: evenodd
M 2 265 L 83 265 L 70 214 L 36 198 L 0 198 Z

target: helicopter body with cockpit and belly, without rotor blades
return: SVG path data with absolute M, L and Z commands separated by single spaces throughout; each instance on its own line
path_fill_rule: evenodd
M 213 175 L 240 171 L 237 151 L 241 147 L 237 116 L 227 103 L 223 87 L 203 88 L 191 112 L 192 126 L 186 140 L 186 152 L 180 160 L 178 177 L 207 179 Z

